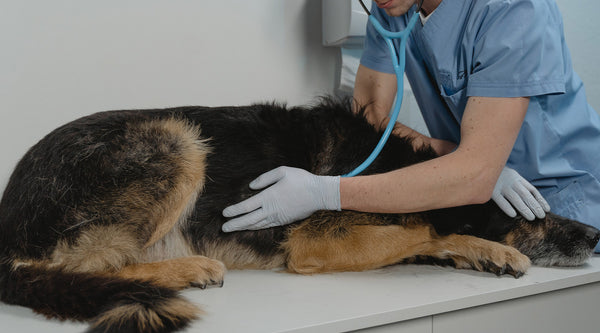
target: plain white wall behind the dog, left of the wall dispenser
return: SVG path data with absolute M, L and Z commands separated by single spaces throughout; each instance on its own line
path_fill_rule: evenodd
M 0 191 L 28 147 L 95 111 L 334 89 L 318 0 L 1 0 Z

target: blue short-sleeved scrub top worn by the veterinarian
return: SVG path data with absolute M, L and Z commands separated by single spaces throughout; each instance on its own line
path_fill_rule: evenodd
M 402 17 L 372 8 L 391 31 L 414 14 L 414 7 Z M 394 73 L 370 24 L 361 64 Z M 507 166 L 553 212 L 600 228 L 600 117 L 573 71 L 554 0 L 443 0 L 411 33 L 406 76 L 432 137 L 455 143 L 469 96 L 530 97 Z

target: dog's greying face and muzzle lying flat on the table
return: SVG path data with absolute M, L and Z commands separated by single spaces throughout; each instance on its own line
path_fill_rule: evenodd
M 539 266 L 578 266 L 593 253 L 600 230 L 556 214 L 527 221 L 517 218 L 504 242 Z

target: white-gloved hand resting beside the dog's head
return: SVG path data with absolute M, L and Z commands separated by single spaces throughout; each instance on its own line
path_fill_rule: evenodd
M 540 192 L 515 170 L 504 167 L 494 187 L 492 200 L 510 217 L 517 211 L 529 221 L 543 219 L 550 205 Z M 514 207 L 514 208 L 513 208 Z

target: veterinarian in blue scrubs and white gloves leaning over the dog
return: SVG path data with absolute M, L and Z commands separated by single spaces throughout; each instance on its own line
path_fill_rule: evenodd
M 416 1 L 378 0 L 372 8 L 384 28 L 400 31 Z M 440 157 L 352 178 L 277 168 L 250 184 L 262 192 L 224 210 L 235 217 L 224 231 L 291 223 L 321 209 L 408 213 L 490 198 L 511 216 L 514 207 L 542 218 L 549 203 L 600 227 L 600 117 L 572 69 L 555 1 L 424 0 L 420 14 L 406 75 L 432 137 L 401 124 L 395 134 Z M 354 98 L 369 106 L 371 123 L 385 126 L 395 94 L 389 51 L 369 24 Z

